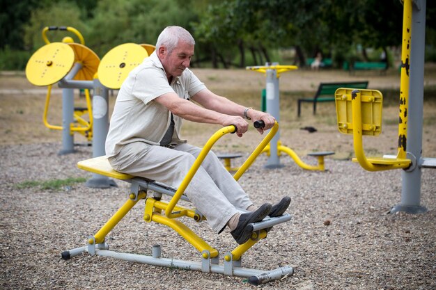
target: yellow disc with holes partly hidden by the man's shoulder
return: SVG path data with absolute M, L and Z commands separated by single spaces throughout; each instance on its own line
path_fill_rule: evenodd
M 103 86 L 118 89 L 134 67 L 148 56 L 146 49 L 135 43 L 125 43 L 111 49 L 98 66 L 98 79 Z

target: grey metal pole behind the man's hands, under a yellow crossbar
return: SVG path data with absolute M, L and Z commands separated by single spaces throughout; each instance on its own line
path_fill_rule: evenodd
M 274 65 L 274 64 L 273 64 Z M 267 113 L 273 115 L 277 122 L 280 123 L 280 100 L 279 100 L 279 78 L 277 77 L 277 70 L 267 69 Z M 272 138 L 270 142 L 270 158 L 267 160 L 265 168 L 281 168 L 277 144 L 280 140 L 280 130 Z

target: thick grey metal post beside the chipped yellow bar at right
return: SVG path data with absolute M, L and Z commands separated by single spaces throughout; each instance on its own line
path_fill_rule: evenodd
M 423 127 L 424 51 L 426 35 L 426 0 L 415 0 L 412 5 L 412 36 L 410 40 L 409 118 L 407 120 L 407 158 L 412 166 L 401 172 L 403 187 L 401 203 L 391 213 L 405 211 L 421 214 L 427 211 L 421 202 L 421 161 Z

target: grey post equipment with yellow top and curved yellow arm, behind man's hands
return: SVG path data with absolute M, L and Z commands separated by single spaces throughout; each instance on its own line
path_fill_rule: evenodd
M 297 70 L 295 65 L 279 65 L 277 63 L 269 64 L 265 66 L 254 66 L 247 67 L 247 70 L 254 70 L 255 72 L 263 72 L 266 74 L 266 103 L 267 103 L 267 113 L 276 118 L 277 122 L 280 122 L 280 99 L 279 99 L 279 77 L 283 72 L 288 72 L 290 70 Z M 280 168 L 279 156 L 281 152 L 288 154 L 297 165 L 306 170 L 325 170 L 324 157 L 327 155 L 332 155 L 334 152 L 313 152 L 309 156 L 316 156 L 318 159 L 318 166 L 311 166 L 304 163 L 299 156 L 289 147 L 281 145 L 280 133 L 277 132 L 276 136 L 272 138 L 271 143 L 265 147 L 263 152 L 270 156 L 267 160 L 265 168 Z

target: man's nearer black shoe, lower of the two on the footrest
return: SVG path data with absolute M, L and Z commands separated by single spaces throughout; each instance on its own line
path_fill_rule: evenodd
M 256 211 L 247 214 L 241 214 L 238 221 L 238 226 L 236 226 L 236 228 L 230 232 L 233 236 L 233 239 L 235 239 L 240 245 L 248 241 L 251 233 L 253 232 L 253 227 L 248 225 L 250 223 L 260 222 L 260 220 L 263 220 L 263 218 L 265 218 L 270 211 L 271 204 L 265 203 L 262 204 Z

